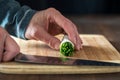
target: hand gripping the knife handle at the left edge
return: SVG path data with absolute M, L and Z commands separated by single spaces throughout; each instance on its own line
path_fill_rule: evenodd
M 0 27 L 0 62 L 12 60 L 20 51 L 10 35 Z

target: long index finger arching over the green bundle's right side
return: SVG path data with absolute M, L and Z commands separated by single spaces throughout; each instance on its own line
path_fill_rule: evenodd
M 55 13 L 56 14 L 54 14 L 54 16 L 53 14 L 50 15 L 51 19 L 53 19 L 52 21 L 56 22 L 60 27 L 64 29 L 64 31 L 68 34 L 69 39 L 75 44 L 75 48 L 77 50 L 82 48 L 82 41 L 79 37 L 76 26 L 70 20 L 62 16 L 59 12 Z

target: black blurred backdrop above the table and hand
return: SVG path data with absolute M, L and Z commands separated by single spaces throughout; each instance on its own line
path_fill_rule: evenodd
M 54 7 L 62 14 L 119 14 L 120 0 L 17 0 L 35 10 Z

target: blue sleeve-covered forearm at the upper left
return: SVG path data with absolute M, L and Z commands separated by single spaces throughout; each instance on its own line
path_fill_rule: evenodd
M 25 39 L 26 28 L 35 11 L 15 0 L 0 0 L 0 26 L 11 35 Z

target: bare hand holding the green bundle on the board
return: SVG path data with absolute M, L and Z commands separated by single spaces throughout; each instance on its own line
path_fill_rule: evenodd
M 54 8 L 38 11 L 32 17 L 25 33 L 27 39 L 41 40 L 53 49 L 59 49 L 60 40 L 54 35 L 66 33 L 75 48 L 82 48 L 76 26 Z

